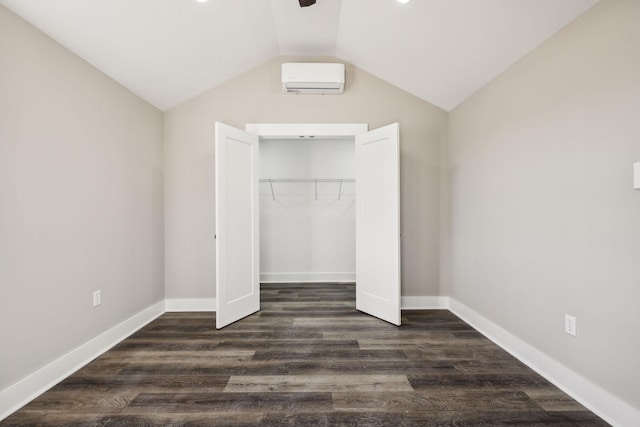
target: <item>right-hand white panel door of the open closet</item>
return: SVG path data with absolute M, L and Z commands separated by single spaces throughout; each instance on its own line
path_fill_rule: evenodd
M 400 155 L 394 123 L 356 135 L 356 308 L 400 325 Z

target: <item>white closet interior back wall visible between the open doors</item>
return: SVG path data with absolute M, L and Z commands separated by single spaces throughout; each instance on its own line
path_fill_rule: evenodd
M 260 281 L 355 280 L 355 183 L 311 181 L 354 174 L 354 138 L 260 141 L 260 178 L 295 180 L 260 185 Z

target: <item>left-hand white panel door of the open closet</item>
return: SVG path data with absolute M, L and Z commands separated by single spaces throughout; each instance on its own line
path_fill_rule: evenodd
M 258 136 L 216 123 L 216 328 L 260 310 Z

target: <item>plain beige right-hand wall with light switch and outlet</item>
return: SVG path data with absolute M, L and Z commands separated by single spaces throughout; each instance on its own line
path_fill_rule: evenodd
M 445 275 L 453 298 L 636 408 L 639 18 L 637 0 L 603 0 L 451 112 Z

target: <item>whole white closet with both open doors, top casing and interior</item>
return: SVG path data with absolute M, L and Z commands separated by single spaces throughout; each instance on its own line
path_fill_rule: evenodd
M 216 327 L 259 311 L 261 282 L 341 281 L 400 325 L 399 167 L 397 123 L 216 123 Z

